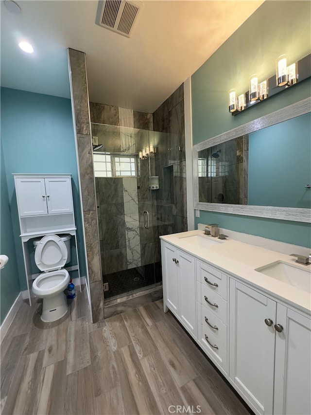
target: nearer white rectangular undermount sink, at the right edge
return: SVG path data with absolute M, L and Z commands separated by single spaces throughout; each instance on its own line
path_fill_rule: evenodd
M 257 268 L 255 271 L 261 272 L 262 274 L 268 275 L 269 277 L 293 287 L 311 292 L 311 266 L 306 265 L 305 267 L 306 269 L 304 270 L 294 264 L 276 261 Z

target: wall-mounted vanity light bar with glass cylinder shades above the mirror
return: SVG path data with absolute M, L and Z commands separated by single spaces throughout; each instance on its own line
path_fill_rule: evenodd
M 311 54 L 289 66 L 287 63 L 287 55 L 282 54 L 276 59 L 276 75 L 261 82 L 257 74 L 252 75 L 249 78 L 249 90 L 240 95 L 237 95 L 236 89 L 229 90 L 229 112 L 232 115 L 239 114 L 276 93 L 311 77 Z

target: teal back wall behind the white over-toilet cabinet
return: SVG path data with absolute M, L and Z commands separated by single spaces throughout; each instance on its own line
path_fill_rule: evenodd
M 1 88 L 1 143 L 20 289 L 27 289 L 27 284 L 19 237 L 17 200 L 12 173 L 70 173 L 72 175 L 71 183 L 80 271 L 81 275 L 86 275 L 78 169 L 70 100 Z M 77 276 L 76 271 L 72 272 L 72 277 L 75 276 Z M 3 295 L 5 295 L 5 292 L 3 292 Z

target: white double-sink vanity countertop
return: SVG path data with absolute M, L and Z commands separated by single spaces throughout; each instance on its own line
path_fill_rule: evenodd
M 187 241 L 188 236 L 193 235 L 202 235 L 204 238 L 217 243 L 209 247 L 201 248 Z M 225 240 L 213 238 L 210 235 L 204 235 L 204 231 L 201 230 L 164 235 L 160 236 L 160 238 L 190 255 L 207 262 L 211 266 L 214 265 L 223 270 L 224 273 L 239 279 L 241 282 L 247 282 L 254 288 L 264 290 L 268 295 L 276 298 L 276 300 L 283 300 L 289 305 L 311 314 L 310 292 L 306 292 L 262 274 L 259 271 L 255 271 L 255 269 L 264 265 L 282 261 L 301 268 L 303 271 L 308 270 L 311 281 L 311 265 L 305 266 L 297 264 L 293 256 L 240 242 L 232 238 Z

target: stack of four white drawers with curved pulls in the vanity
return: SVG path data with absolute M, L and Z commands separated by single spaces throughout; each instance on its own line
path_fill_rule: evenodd
M 227 373 L 227 276 L 196 261 L 198 341 L 208 357 Z

